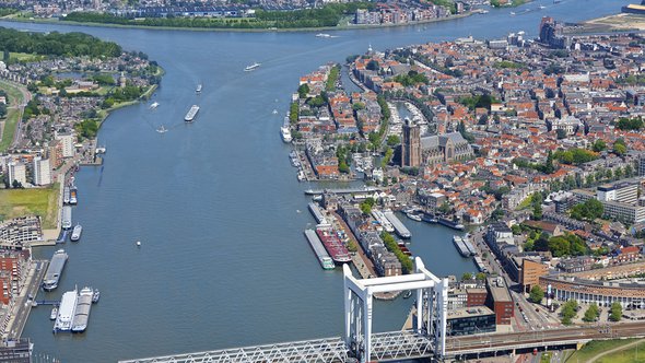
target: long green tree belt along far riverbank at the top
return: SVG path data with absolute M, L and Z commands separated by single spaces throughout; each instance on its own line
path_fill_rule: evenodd
M 72 12 L 66 22 L 104 23 L 119 25 L 143 25 L 191 28 L 297 28 L 337 26 L 343 15 L 353 14 L 356 9 L 372 9 L 370 2 L 331 3 L 319 9 L 295 11 L 256 10 L 255 17 L 149 17 L 134 19 L 105 13 Z

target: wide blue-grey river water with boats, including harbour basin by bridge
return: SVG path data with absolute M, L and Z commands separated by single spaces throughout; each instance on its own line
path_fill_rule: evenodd
M 634 1 L 632 1 L 634 2 Z M 153 96 L 113 113 L 99 132 L 104 167 L 77 176 L 83 225 L 57 291 L 97 288 L 87 331 L 51 333 L 49 308 L 24 331 L 39 354 L 62 362 L 115 362 L 179 352 L 340 336 L 342 273 L 322 271 L 303 236 L 314 223 L 308 199 L 279 137 L 298 78 L 349 55 L 473 35 L 537 35 L 541 16 L 582 21 L 629 1 L 539 0 L 513 11 L 418 26 L 330 32 L 226 33 L 0 22 L 33 31 L 86 32 L 141 50 L 165 70 Z M 538 5 L 546 5 L 539 10 Z M 530 11 L 519 14 L 524 9 Z M 255 61 L 254 72 L 243 69 Z M 345 83 L 348 83 L 345 79 Z M 203 84 L 201 95 L 195 87 Z M 152 101 L 151 101 L 152 102 Z M 192 125 L 184 115 L 201 110 Z M 273 115 L 272 110 L 279 114 Z M 160 134 L 164 125 L 169 131 Z M 453 231 L 402 218 L 411 250 L 437 276 L 474 271 Z M 136 241 L 141 241 L 137 248 Z M 54 247 L 36 257 L 50 258 Z M 375 331 L 400 329 L 410 301 L 375 305 Z

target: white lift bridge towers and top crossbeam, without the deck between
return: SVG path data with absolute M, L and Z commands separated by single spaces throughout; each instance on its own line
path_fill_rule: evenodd
M 356 279 L 349 266 L 343 265 L 344 276 L 344 342 L 350 354 L 360 362 L 370 362 L 372 344 L 372 298 L 376 293 L 415 291 L 417 331 L 426 337 L 435 356 L 446 352 L 446 316 L 448 280 L 431 273 L 421 258 L 414 259 L 414 273 L 396 277 Z M 395 347 L 392 347 L 395 348 Z

